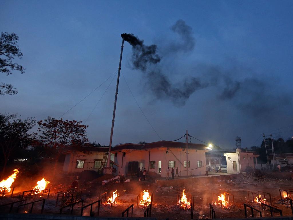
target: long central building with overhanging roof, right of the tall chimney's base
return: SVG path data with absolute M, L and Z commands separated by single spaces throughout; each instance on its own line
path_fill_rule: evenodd
M 172 141 L 158 141 L 147 144 L 126 143 L 113 148 L 115 153 L 114 162 L 120 175 L 130 174 L 138 167 L 144 167 L 148 171 L 166 177 L 165 170 L 170 167 L 178 167 L 179 175 L 186 176 L 186 166 L 188 175 L 204 175 L 206 171 L 207 146 L 204 144 L 188 144 L 188 161 L 186 161 L 186 143 Z M 134 163 L 135 162 L 135 163 Z M 137 163 L 136 163 L 137 162 Z M 136 172 L 136 171 L 135 171 Z M 175 173 L 174 173 L 175 175 Z M 171 172 L 170 172 L 171 177 Z

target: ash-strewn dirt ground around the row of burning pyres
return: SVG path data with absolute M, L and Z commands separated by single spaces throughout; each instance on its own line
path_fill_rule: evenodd
M 190 210 L 179 210 L 177 206 L 177 195 L 182 194 L 183 187 L 158 187 L 155 183 L 155 178 L 147 178 L 146 181 L 138 181 L 137 178 L 129 178 L 130 182 L 125 183 L 113 183 L 110 185 L 102 186 L 103 180 L 110 178 L 111 175 L 102 176 L 90 182 L 81 183 L 79 185 L 79 191 L 82 191 L 82 198 L 84 199 L 84 205 L 95 202 L 99 199 L 99 195 L 108 192 L 109 194 L 117 189 L 119 196 L 117 198 L 117 204 L 113 207 L 109 205 L 101 204 L 99 216 L 121 216 L 122 211 L 127 207 L 134 204 L 133 216 L 143 217 L 145 208 L 137 208 L 137 195 L 143 190 L 149 190 L 150 193 L 154 193 L 153 207 L 151 210 L 151 217 L 158 219 L 190 219 Z M 43 213 L 59 214 L 60 207 L 55 207 L 57 194 L 65 192 L 70 189 L 70 184 L 75 177 L 64 177 L 58 180 L 52 181 L 48 187 L 51 188 L 50 197 L 46 199 L 45 209 Z M 202 177 L 205 178 L 205 177 Z M 53 183 L 54 182 L 54 183 Z M 235 207 L 231 209 L 224 209 L 219 206 L 213 205 L 217 218 L 231 218 L 239 217 L 244 218 L 243 203 L 253 205 L 256 209 L 262 211 L 262 216 L 270 216 L 270 211 L 262 209 L 257 204 L 253 204 L 252 201 L 248 201 L 247 191 L 258 193 L 258 191 L 268 192 L 271 194 L 272 206 L 282 210 L 283 216 L 292 215 L 289 203 L 286 200 L 280 201 L 279 189 L 291 189 L 292 180 L 277 180 L 272 178 L 256 177 L 252 173 L 248 173 L 246 176 L 239 175 L 234 180 L 216 180 L 213 182 L 205 182 L 204 184 L 185 184 L 185 191 L 194 196 L 194 219 L 209 218 L 209 203 L 213 201 L 213 193 L 222 194 L 228 192 L 234 195 Z M 31 189 L 31 186 L 18 185 L 18 189 L 13 194 L 13 198 L 4 197 L 0 199 L 0 204 L 5 204 L 12 201 L 17 201 L 20 198 L 21 192 L 25 189 Z M 267 197 L 267 202 L 268 201 Z M 32 201 L 32 200 L 31 200 Z M 17 205 L 15 205 L 17 207 Z M 41 203 L 34 205 L 33 213 L 38 213 L 41 207 Z M 26 206 L 25 209 L 21 207 L 20 211 L 29 211 L 30 206 Z M 4 209 L 4 211 L 7 211 Z M 74 206 L 73 214 L 80 215 L 81 203 Z M 96 205 L 93 206 L 93 211 L 96 212 Z M 70 214 L 70 207 L 63 210 L 64 214 Z M 83 215 L 89 215 L 90 207 L 84 209 Z M 130 209 L 131 213 L 131 209 Z M 96 215 L 96 213 L 95 213 Z M 251 216 L 251 211 L 248 208 L 248 217 Z M 275 212 L 274 216 L 279 216 L 279 213 Z

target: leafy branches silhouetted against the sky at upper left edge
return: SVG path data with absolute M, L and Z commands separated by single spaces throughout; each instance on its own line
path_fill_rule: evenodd
M 25 68 L 18 63 L 13 63 L 12 59 L 18 57 L 22 58 L 23 54 L 18 47 L 18 36 L 15 33 L 1 32 L 0 36 L 0 72 L 6 73 L 6 75 L 12 74 L 12 70 L 20 71 L 24 73 Z M 1 58 L 5 57 L 5 58 Z M 0 95 L 5 94 L 17 94 L 18 91 L 13 89 L 11 84 L 0 83 Z

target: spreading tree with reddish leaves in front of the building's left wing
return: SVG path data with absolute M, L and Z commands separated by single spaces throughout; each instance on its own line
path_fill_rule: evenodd
M 54 119 L 50 116 L 44 121 L 38 121 L 41 141 L 56 155 L 54 172 L 56 172 L 58 159 L 67 146 L 81 147 L 88 143 L 86 137 L 88 126 L 81 123 L 82 121 L 63 121 L 63 119 Z

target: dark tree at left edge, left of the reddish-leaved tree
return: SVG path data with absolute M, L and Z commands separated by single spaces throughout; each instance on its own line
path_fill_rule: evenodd
M 21 149 L 25 149 L 35 139 L 35 133 L 29 133 L 30 129 L 36 125 L 33 118 L 24 121 L 15 118 L 16 114 L 0 114 L 0 147 L 2 159 L 4 161 L 2 174 L 4 175 L 8 160 Z

